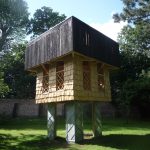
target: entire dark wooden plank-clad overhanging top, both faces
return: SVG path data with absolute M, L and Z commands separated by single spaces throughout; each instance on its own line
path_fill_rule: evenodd
M 118 43 L 70 17 L 28 44 L 25 69 L 32 69 L 71 51 L 119 66 Z

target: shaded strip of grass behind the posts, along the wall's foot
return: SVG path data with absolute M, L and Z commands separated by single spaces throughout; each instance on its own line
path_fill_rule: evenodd
M 57 129 L 65 130 L 65 119 L 57 118 Z M 115 131 L 115 130 L 149 130 L 150 123 L 142 121 L 130 121 L 129 124 L 124 120 L 104 120 L 103 131 Z M 36 129 L 47 130 L 46 118 L 5 118 L 0 119 L 0 129 L 8 130 L 22 130 L 22 129 Z M 88 120 L 84 121 L 84 129 L 91 130 L 92 123 Z

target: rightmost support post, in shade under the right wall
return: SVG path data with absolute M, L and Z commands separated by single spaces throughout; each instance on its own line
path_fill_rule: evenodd
M 98 137 L 102 135 L 102 124 L 100 114 L 100 102 L 93 102 L 92 104 L 92 124 L 93 124 L 93 135 Z

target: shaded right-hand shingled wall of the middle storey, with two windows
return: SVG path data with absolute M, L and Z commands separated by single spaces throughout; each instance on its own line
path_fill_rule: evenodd
M 74 100 L 110 101 L 109 66 L 84 56 L 74 56 Z

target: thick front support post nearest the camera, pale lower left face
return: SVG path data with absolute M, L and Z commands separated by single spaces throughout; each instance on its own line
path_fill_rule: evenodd
M 66 104 L 66 134 L 67 142 L 83 140 L 83 108 L 79 102 Z

